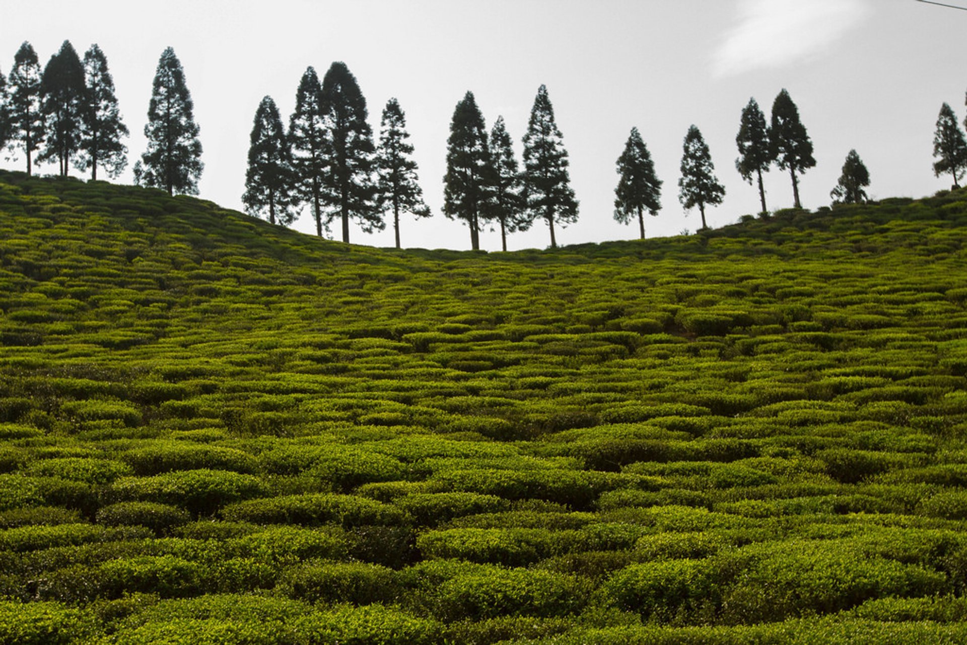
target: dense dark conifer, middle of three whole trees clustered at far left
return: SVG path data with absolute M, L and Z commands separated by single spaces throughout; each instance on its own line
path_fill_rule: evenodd
M 64 41 L 44 67 L 41 109 L 47 145 L 37 161 L 56 158 L 60 176 L 67 177 L 71 156 L 80 149 L 88 109 L 84 66 L 70 41 Z

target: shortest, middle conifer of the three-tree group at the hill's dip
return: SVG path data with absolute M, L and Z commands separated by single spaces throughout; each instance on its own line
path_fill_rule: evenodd
M 500 224 L 501 249 L 507 250 L 507 235 L 531 227 L 524 200 L 524 180 L 513 156 L 511 135 L 498 116 L 490 131 L 490 161 L 493 163 L 493 203 L 487 219 Z

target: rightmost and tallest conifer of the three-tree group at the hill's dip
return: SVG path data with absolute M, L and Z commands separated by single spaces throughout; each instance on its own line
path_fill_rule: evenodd
M 524 134 L 524 196 L 531 218 L 547 221 L 551 249 L 557 248 L 554 223 L 566 226 L 577 221 L 577 200 L 568 174 L 568 151 L 543 85 Z

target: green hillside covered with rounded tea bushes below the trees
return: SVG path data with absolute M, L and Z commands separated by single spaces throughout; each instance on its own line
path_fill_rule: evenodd
M 0 642 L 967 641 L 965 232 L 366 249 L 0 173 Z

